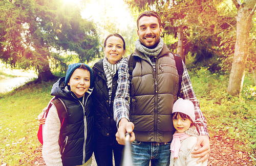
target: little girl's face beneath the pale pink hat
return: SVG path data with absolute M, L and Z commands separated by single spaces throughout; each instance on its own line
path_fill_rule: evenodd
M 176 118 L 173 117 L 173 125 L 174 128 L 178 132 L 184 132 L 190 127 L 191 121 L 187 118 L 181 118 L 180 115 L 178 115 Z

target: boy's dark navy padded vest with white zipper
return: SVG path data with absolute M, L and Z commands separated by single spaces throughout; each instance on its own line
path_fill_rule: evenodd
M 65 77 L 60 78 L 59 87 L 63 89 Z M 58 84 L 58 82 L 56 82 Z M 62 163 L 66 165 L 82 165 L 93 154 L 93 110 L 92 99 L 89 93 L 85 93 L 85 107 L 71 91 L 63 93 L 52 89 L 51 95 L 60 97 L 68 111 L 68 121 L 63 130 L 63 139 L 67 138 L 67 145 L 61 155 Z M 55 92 L 54 92 L 55 91 Z M 83 111 L 85 110 L 85 111 Z M 84 128 L 86 126 L 86 128 Z M 86 139 L 84 139 L 86 138 Z

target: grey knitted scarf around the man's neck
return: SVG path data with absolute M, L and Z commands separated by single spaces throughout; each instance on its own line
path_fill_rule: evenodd
M 151 57 L 157 57 L 158 54 L 161 52 L 161 50 L 163 49 L 163 39 L 160 38 L 160 42 L 158 43 L 158 45 L 156 46 L 156 48 L 150 49 L 145 47 L 144 45 L 142 45 L 140 43 L 140 40 L 137 39 L 135 42 L 135 47 L 138 49 L 138 51 L 144 53 L 146 56 L 148 56 L 149 58 Z

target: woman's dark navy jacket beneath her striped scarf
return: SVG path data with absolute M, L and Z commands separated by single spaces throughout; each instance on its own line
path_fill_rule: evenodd
M 92 98 L 95 135 L 115 136 L 117 127 L 113 118 L 113 102 L 116 96 L 118 73 L 113 77 L 113 90 L 111 103 L 109 104 L 109 91 L 106 86 L 103 59 L 97 62 L 92 69 L 94 73 L 94 89 Z

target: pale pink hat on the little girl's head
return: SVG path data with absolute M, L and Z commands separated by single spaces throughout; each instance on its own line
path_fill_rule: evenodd
M 191 118 L 193 122 L 196 120 L 194 104 L 190 100 L 183 100 L 179 98 L 173 106 L 173 113 L 183 113 Z

